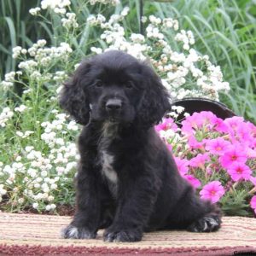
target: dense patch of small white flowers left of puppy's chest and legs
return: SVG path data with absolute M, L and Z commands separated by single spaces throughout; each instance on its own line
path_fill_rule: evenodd
M 41 124 L 44 128 L 42 141 L 44 147 L 49 147 L 48 154 L 43 153 L 43 148 L 38 151 L 34 146 L 26 145 L 12 164 L 3 166 L 0 163 L 0 177 L 4 177 L 0 185 L 0 200 L 8 193 L 8 189 L 3 189 L 8 186 L 17 195 L 16 203 L 23 204 L 29 199 L 33 208 L 53 211 L 56 206 L 52 202 L 57 189 L 72 182 L 79 154 L 75 143 L 64 141 L 61 136 L 68 131 L 78 131 L 79 126 L 74 121 L 68 122 L 65 113 L 58 113 L 55 109 L 52 113 L 56 119 Z M 26 133 L 33 132 L 16 131 L 21 139 Z M 18 180 L 22 180 L 22 185 L 16 186 Z

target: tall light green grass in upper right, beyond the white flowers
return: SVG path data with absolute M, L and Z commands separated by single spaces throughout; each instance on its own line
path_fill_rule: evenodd
M 177 18 L 195 44 L 218 64 L 231 93 L 222 97 L 236 114 L 256 122 L 256 7 L 253 1 L 181 0 L 154 3 L 160 16 Z

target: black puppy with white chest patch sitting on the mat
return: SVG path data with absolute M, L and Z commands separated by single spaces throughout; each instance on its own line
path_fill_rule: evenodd
M 220 211 L 179 175 L 154 131 L 168 94 L 151 67 L 110 50 L 82 62 L 64 84 L 61 107 L 79 124 L 76 212 L 64 238 L 140 241 L 144 231 L 220 227 Z

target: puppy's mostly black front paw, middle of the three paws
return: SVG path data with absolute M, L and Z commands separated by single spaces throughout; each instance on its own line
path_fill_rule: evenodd
M 141 241 L 143 233 L 139 230 L 114 230 L 109 228 L 104 232 L 104 241 Z

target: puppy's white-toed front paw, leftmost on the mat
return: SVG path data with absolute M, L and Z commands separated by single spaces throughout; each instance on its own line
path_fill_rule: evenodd
M 96 232 L 91 232 L 84 227 L 75 227 L 69 224 L 65 229 L 61 230 L 62 238 L 72 239 L 93 239 L 96 238 Z

